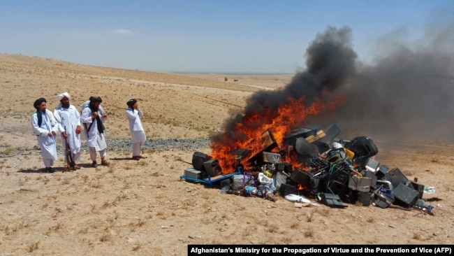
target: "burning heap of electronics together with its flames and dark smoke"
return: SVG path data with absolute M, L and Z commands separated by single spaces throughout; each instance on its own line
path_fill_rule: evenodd
M 452 29 L 433 34 L 438 32 L 451 35 Z M 203 164 L 187 174 L 228 185 L 226 192 L 235 194 L 272 199 L 270 193 L 291 192 L 330 206 L 399 204 L 430 212 L 421 199 L 423 185 L 380 165 L 369 136 L 351 134 L 452 138 L 446 127 L 454 113 L 453 58 L 447 57 L 451 48 L 438 50 L 452 40 L 435 37 L 424 49 L 395 43 L 399 46 L 381 52 L 369 66 L 358 61 L 351 38 L 348 27 L 317 34 L 305 54 L 307 68 L 285 87 L 251 95 L 244 109 L 226 120 L 224 131 L 212 136 L 211 155 L 194 155 Z M 444 125 L 427 133 L 429 122 Z M 343 137 L 351 139 L 338 139 L 339 127 L 327 123 L 344 127 L 350 135 Z

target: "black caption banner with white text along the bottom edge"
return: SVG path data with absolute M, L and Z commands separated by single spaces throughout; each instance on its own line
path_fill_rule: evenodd
M 337 253 L 411 253 L 411 255 L 451 255 L 451 246 L 443 245 L 188 245 L 188 256 L 220 253 L 224 255 L 325 255 Z

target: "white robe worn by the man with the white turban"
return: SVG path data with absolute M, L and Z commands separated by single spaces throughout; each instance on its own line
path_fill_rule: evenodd
M 80 113 L 75 106 L 70 105 L 69 108 L 61 107 L 61 104 L 54 110 L 54 118 L 57 120 L 59 131 L 68 134 L 68 145 L 73 154 L 80 152 L 80 134 L 75 133 L 75 129 L 80 125 Z M 66 140 L 61 136 L 63 145 L 66 145 Z

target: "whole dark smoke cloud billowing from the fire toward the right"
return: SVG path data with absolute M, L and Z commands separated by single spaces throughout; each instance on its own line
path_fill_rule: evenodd
M 233 129 L 237 122 L 277 110 L 289 98 L 305 97 L 309 105 L 314 99 L 329 103 L 330 95 L 339 94 L 342 104 L 307 118 L 305 127 L 336 124 L 343 138 L 367 135 L 393 143 L 454 141 L 454 24 L 432 24 L 413 43 L 402 40 L 403 29 L 393 31 L 376 43 L 372 64 L 358 60 L 352 35 L 349 27 L 328 27 L 317 34 L 305 53 L 307 69 L 280 90 L 253 94 L 244 110 L 226 120 L 225 133 L 212 141 L 241 139 Z

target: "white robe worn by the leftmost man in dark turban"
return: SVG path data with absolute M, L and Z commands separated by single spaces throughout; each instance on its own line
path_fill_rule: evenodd
M 41 148 L 41 157 L 43 157 L 43 159 L 57 160 L 57 140 L 55 139 L 55 136 L 48 136 L 49 131 L 55 131 L 57 133 L 57 121 L 55 121 L 52 112 L 47 109 L 42 117 L 43 122 L 41 122 L 41 126 L 39 126 L 38 114 L 35 112 L 31 115 L 31 128 L 38 139 L 38 145 Z

